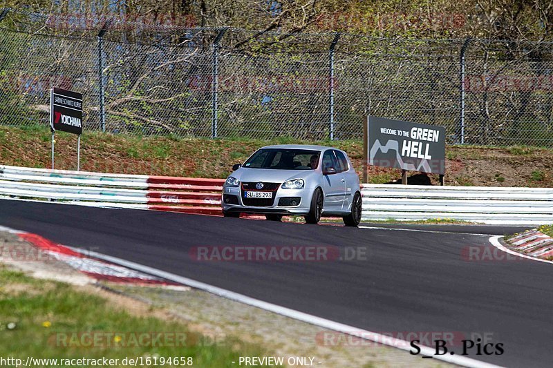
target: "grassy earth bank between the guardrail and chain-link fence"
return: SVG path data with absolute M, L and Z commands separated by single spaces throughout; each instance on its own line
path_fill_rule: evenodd
M 83 171 L 103 173 L 224 178 L 231 173 L 233 164 L 243 163 L 256 149 L 271 144 L 321 144 L 341 148 L 348 153 L 355 170 L 362 176 L 364 148 L 361 139 L 332 142 L 292 137 L 269 140 L 177 135 L 142 137 L 97 131 L 86 131 L 82 135 L 81 168 Z M 56 168 L 75 168 L 76 145 L 75 135 L 56 133 Z M 446 155 L 448 184 L 498 186 L 515 182 L 516 186 L 553 186 L 553 177 L 547 171 L 553 161 L 552 149 L 452 145 L 446 147 Z M 528 162 L 532 162 L 532 166 Z M 50 167 L 50 129 L 47 126 L 0 126 L 0 164 Z M 485 172 L 478 170 L 482 164 L 485 164 Z M 506 170 L 506 166 L 513 170 Z M 494 173 L 501 175 L 494 177 Z M 368 172 L 367 182 L 383 184 L 400 177 L 399 170 L 373 166 Z M 431 180 L 433 184 L 438 184 L 437 175 Z

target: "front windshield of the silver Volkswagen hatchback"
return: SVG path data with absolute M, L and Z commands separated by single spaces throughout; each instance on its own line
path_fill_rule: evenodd
M 245 168 L 280 170 L 313 170 L 319 164 L 321 151 L 297 148 L 262 148 L 244 163 Z

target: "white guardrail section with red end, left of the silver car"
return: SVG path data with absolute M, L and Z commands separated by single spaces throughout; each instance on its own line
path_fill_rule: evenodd
M 3 197 L 221 215 L 224 180 L 0 166 Z

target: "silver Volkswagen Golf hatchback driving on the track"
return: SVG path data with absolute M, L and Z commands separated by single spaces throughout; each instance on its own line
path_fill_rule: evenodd
M 344 151 L 325 146 L 283 144 L 260 148 L 223 185 L 223 214 L 263 213 L 267 220 L 303 215 L 308 224 L 321 216 L 361 220 L 359 176 Z

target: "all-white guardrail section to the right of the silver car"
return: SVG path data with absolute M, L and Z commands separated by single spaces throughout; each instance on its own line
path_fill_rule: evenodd
M 553 223 L 553 188 L 363 184 L 363 220 Z

